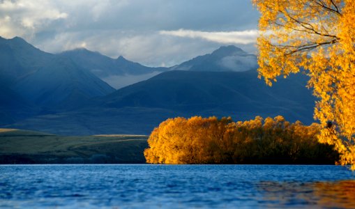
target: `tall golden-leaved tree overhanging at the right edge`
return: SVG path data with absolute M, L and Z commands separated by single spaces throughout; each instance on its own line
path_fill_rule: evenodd
M 252 0 L 261 13 L 259 78 L 302 70 L 319 98 L 319 141 L 333 144 L 340 164 L 355 169 L 355 1 Z

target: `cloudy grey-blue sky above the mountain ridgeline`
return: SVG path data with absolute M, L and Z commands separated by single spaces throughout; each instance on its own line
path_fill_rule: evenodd
M 148 66 L 176 65 L 222 45 L 255 53 L 258 18 L 250 0 L 0 0 L 3 38 Z

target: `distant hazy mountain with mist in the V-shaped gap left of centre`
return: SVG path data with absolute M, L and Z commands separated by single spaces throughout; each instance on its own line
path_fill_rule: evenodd
M 168 68 L 150 68 L 133 61 L 128 61 L 119 56 L 112 59 L 99 52 L 91 52 L 87 49 L 73 49 L 62 52 L 83 68 L 89 69 L 94 75 L 103 79 L 114 88 L 122 88 L 145 79 L 149 79 Z

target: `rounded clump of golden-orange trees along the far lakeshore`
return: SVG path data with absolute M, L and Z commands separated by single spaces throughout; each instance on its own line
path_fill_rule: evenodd
M 316 123 L 289 123 L 282 116 L 233 122 L 231 118 L 169 118 L 151 133 L 148 163 L 332 164 L 331 146 L 319 144 Z

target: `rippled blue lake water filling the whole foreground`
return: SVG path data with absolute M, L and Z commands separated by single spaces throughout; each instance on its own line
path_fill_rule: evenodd
M 0 208 L 355 208 L 345 167 L 1 165 Z

